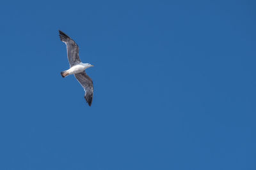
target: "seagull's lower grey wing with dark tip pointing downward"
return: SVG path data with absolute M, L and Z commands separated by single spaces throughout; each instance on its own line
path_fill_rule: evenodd
M 85 71 L 75 74 L 75 77 L 84 88 L 84 91 L 85 91 L 84 99 L 89 104 L 89 106 L 91 106 L 92 98 L 93 98 L 92 79 L 85 73 Z

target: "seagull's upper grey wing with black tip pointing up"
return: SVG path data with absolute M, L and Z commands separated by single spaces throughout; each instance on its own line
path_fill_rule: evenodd
M 62 31 L 60 32 L 60 40 L 67 45 L 68 62 L 70 67 L 79 64 L 81 60 L 79 59 L 79 47 L 76 42 L 71 39 L 67 34 Z

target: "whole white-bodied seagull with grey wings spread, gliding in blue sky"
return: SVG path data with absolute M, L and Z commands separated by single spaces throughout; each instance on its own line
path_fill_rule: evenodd
M 67 55 L 68 55 L 68 62 L 70 69 L 65 71 L 61 71 L 61 76 L 65 78 L 70 74 L 74 74 L 77 81 L 81 84 L 84 88 L 84 99 L 89 104 L 92 105 L 92 98 L 93 98 L 93 82 L 92 78 L 90 78 L 86 73 L 85 69 L 89 67 L 93 67 L 92 64 L 83 63 L 79 59 L 79 47 L 76 42 L 71 39 L 67 34 L 62 31 L 60 32 L 60 40 L 67 45 Z

